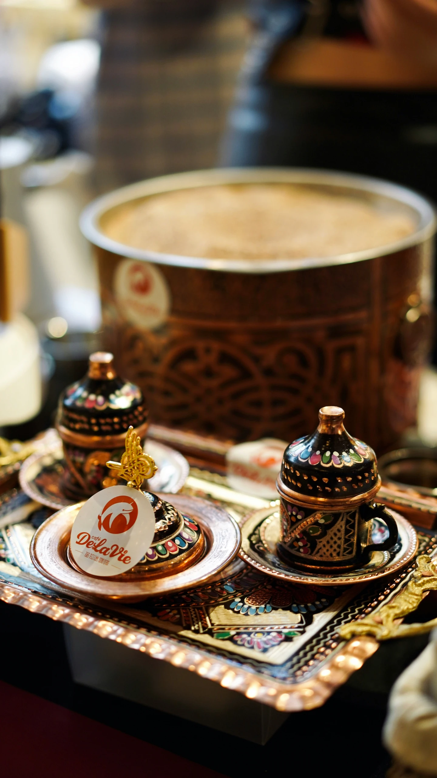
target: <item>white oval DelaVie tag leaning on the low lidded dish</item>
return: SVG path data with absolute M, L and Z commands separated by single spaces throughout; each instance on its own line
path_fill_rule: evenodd
M 84 573 L 108 578 L 140 562 L 154 537 L 154 510 L 143 492 L 109 486 L 90 497 L 71 527 L 71 555 Z

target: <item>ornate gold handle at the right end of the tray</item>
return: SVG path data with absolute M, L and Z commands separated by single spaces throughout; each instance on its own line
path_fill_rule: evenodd
M 407 586 L 374 615 L 344 624 L 338 630 L 342 638 L 350 640 L 357 635 L 373 635 L 376 640 L 390 640 L 393 637 L 421 635 L 437 626 L 437 619 L 423 624 L 401 623 L 405 616 L 418 608 L 425 591 L 437 589 L 437 564 L 426 554 L 418 556 L 416 564 Z

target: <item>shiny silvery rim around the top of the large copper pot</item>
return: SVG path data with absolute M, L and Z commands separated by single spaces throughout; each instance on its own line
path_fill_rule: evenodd
M 129 202 L 139 201 L 150 195 L 159 195 L 168 191 L 207 187 L 217 184 L 303 184 L 306 186 L 332 187 L 335 191 L 349 190 L 355 197 L 385 198 L 397 203 L 401 209 L 410 209 L 417 222 L 417 227 L 411 235 L 386 244 L 381 247 L 352 251 L 348 254 L 338 254 L 331 257 L 277 258 L 256 261 L 249 259 L 224 259 L 188 257 L 178 254 L 161 254 L 158 251 L 144 249 L 118 243 L 109 238 L 102 230 L 101 219 L 112 209 Z M 217 168 L 213 170 L 194 170 L 188 173 L 173 173 L 137 184 L 130 184 L 109 192 L 91 202 L 82 212 L 80 227 L 83 235 L 95 246 L 118 254 L 121 257 L 139 261 L 154 262 L 156 265 L 176 265 L 185 268 L 199 268 L 218 272 L 275 273 L 302 270 L 307 268 L 322 268 L 332 265 L 349 265 L 421 244 L 435 233 L 437 219 L 431 203 L 408 187 L 391 184 L 389 181 L 359 176 L 355 173 L 341 173 L 335 170 L 310 170 L 308 168 Z

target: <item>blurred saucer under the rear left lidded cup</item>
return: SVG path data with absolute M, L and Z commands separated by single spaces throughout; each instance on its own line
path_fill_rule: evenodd
M 156 440 L 147 440 L 146 447 L 147 454 L 158 465 L 156 475 L 147 481 L 147 489 L 172 494 L 179 492 L 189 475 L 186 458 Z M 61 438 L 55 429 L 50 429 L 40 440 L 35 453 L 23 462 L 19 471 L 20 486 L 37 503 L 54 510 L 73 505 L 77 500 L 68 499 L 61 491 L 65 468 Z

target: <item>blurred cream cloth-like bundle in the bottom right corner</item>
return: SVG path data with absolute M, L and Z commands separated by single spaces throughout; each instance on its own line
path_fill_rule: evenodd
M 397 678 L 383 742 L 402 765 L 437 776 L 437 635 Z

